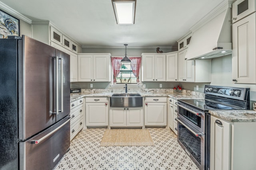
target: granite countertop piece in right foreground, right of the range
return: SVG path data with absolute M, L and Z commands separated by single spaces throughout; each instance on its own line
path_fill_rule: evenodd
M 209 113 L 231 122 L 256 121 L 256 111 L 253 110 L 210 110 Z

